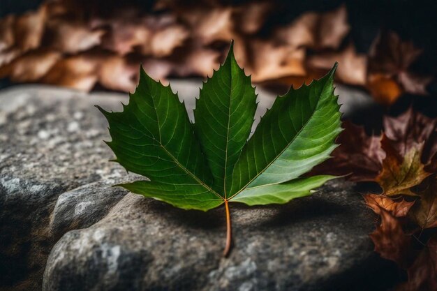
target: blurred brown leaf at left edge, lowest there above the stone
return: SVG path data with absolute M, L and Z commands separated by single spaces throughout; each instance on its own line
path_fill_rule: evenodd
M 34 50 L 22 54 L 10 64 L 0 67 L 0 78 L 10 77 L 13 82 L 36 82 L 40 80 L 61 58 L 54 50 Z

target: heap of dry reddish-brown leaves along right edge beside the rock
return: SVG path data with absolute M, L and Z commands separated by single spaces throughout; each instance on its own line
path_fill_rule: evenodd
M 364 195 L 380 216 L 371 234 L 375 251 L 407 270 L 398 291 L 437 290 L 437 119 L 410 109 L 385 117 L 379 136 L 343 127 L 334 158 L 314 172 L 377 182 L 382 193 Z

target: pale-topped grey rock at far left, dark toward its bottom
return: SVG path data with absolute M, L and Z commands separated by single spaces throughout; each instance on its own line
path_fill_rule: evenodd
M 93 106 L 115 109 L 126 100 L 110 97 L 35 86 L 0 94 L 0 289 L 40 289 L 61 193 L 126 176 L 108 163 L 107 123 Z

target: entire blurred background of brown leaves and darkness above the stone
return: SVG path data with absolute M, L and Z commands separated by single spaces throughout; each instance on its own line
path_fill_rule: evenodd
M 1 0 L 0 87 L 132 91 L 139 64 L 163 82 L 206 77 L 234 39 L 239 64 L 275 94 L 338 61 L 336 82 L 374 100 L 353 119 L 377 129 L 411 104 L 436 115 L 436 11 L 399 0 Z

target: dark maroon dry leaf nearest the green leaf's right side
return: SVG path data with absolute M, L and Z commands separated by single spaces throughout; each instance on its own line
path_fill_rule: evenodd
M 340 144 L 333 158 L 315 167 L 313 174 L 350 174 L 351 181 L 373 181 L 378 175 L 385 153 L 380 136 L 366 135 L 362 126 L 343 122 L 343 132 L 336 142 Z

